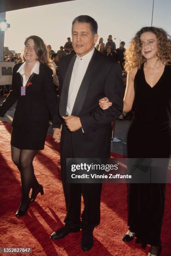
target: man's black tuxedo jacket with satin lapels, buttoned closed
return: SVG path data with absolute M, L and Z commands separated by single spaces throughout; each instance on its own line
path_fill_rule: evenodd
M 60 128 L 61 149 L 65 140 L 66 126 L 61 118 L 66 115 L 68 91 L 76 54 L 68 54 L 59 62 L 60 98 L 53 128 Z M 112 106 L 102 110 L 98 102 L 108 97 Z M 118 118 L 123 110 L 123 81 L 121 67 L 113 59 L 95 49 L 83 81 L 78 90 L 72 115 L 78 116 L 82 128 L 71 132 L 75 158 L 109 157 L 111 145 L 111 121 Z M 68 131 L 67 131 L 68 132 Z M 65 150 L 65 149 L 64 149 Z

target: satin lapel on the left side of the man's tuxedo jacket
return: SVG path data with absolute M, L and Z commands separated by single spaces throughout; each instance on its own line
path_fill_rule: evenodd
M 75 59 L 76 59 L 76 54 L 73 56 L 73 58 L 70 61 L 67 72 L 65 74 L 65 79 L 63 81 L 63 87 L 62 87 L 62 91 L 60 95 L 60 103 L 59 103 L 59 113 L 61 117 L 66 115 L 70 79 L 73 72 Z

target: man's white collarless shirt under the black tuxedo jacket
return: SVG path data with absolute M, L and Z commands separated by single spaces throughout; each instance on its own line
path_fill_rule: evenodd
M 73 72 L 70 79 L 69 92 L 68 92 L 68 103 L 67 103 L 67 110 L 66 110 L 67 115 L 71 115 L 72 113 L 75 99 L 78 94 L 78 90 L 83 81 L 83 77 L 88 68 L 88 64 L 93 56 L 93 53 L 94 53 L 94 47 L 93 47 L 93 50 L 90 51 L 88 54 L 84 55 L 81 58 L 77 55 L 75 59 Z

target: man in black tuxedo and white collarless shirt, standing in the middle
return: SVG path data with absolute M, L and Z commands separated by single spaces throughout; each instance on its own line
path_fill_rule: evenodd
M 66 158 L 109 158 L 111 121 L 118 118 L 123 109 L 121 67 L 95 49 L 97 29 L 96 20 L 88 15 L 73 20 L 72 42 L 76 54 L 68 54 L 59 62 L 59 113 L 53 118 L 53 138 L 60 141 L 67 215 L 63 228 L 50 237 L 64 238 L 81 228 L 84 251 L 93 246 L 93 229 L 100 223 L 102 184 L 66 183 Z M 113 103 L 111 108 L 99 108 L 98 101 L 103 97 Z M 81 195 L 84 200 L 82 220 Z

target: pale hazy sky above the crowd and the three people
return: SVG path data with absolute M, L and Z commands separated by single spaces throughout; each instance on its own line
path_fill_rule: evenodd
M 152 6 L 153 0 L 75 0 L 9 11 L 6 20 L 10 28 L 5 31 L 4 46 L 21 52 L 25 38 L 37 35 L 57 51 L 71 37 L 73 19 L 90 15 L 97 21 L 104 43 L 111 34 L 116 47 L 119 39 L 128 47 L 140 28 L 151 26 Z M 171 0 L 154 0 L 153 26 L 171 35 Z

